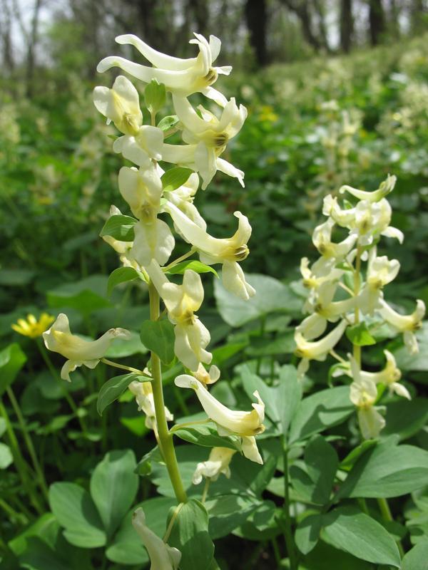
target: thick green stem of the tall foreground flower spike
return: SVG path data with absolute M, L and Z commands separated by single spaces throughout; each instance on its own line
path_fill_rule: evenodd
M 150 299 L 150 318 L 152 321 L 157 321 L 159 318 L 159 295 L 153 283 L 148 285 L 148 295 Z M 168 423 L 165 418 L 165 404 L 163 403 L 163 389 L 162 389 L 162 370 L 161 361 L 158 355 L 154 352 L 151 353 L 151 368 L 152 368 L 152 389 L 153 400 L 155 402 L 156 423 L 158 424 L 159 441 L 161 442 L 161 452 L 163 460 L 166 463 L 168 474 L 175 492 L 175 497 L 179 503 L 187 502 L 187 494 L 183 487 L 180 471 L 178 470 L 177 457 L 175 456 L 175 449 L 173 443 L 173 436 L 168 430 Z

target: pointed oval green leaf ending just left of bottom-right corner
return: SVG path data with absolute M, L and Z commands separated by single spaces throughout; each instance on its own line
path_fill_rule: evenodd
M 400 567 L 394 539 L 382 524 L 354 507 L 337 507 L 323 515 L 321 537 L 367 562 Z

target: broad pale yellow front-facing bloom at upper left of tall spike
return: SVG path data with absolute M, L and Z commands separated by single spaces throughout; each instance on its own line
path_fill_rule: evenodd
M 93 90 L 93 103 L 98 111 L 113 121 L 114 125 L 125 135 L 136 135 L 143 123 L 138 91 L 131 81 L 118 76 L 113 88 L 96 87 Z

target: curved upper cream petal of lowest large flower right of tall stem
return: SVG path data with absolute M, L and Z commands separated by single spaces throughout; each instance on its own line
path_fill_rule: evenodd
M 258 435 L 265 430 L 265 426 L 263 425 L 263 420 L 265 419 L 265 405 L 260 399 L 257 390 L 253 394 L 258 400 L 258 403 L 253 404 L 254 410 L 252 412 L 236 412 L 216 400 L 214 396 L 205 389 L 203 384 L 195 380 L 193 376 L 188 374 L 177 376 L 177 378 L 175 378 L 175 385 L 180 388 L 192 388 L 195 390 L 205 413 L 218 425 L 218 428 L 220 428 L 220 431 L 223 433 L 227 432 L 228 434 L 251 436 Z

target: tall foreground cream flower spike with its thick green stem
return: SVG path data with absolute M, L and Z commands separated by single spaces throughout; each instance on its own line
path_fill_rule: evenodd
M 161 375 L 160 356 L 166 364 L 173 357 L 165 356 L 169 353 L 169 341 L 163 339 L 173 338 L 171 348 L 184 368 L 185 374 L 176 378 L 175 385 L 195 391 L 208 415 L 205 421 L 215 425 L 218 435 L 233 436 L 228 437 L 225 444 L 234 445 L 235 450 L 225 452 L 223 447 L 215 448 L 207 462 L 195 466 L 198 475 L 193 478 L 194 482 L 200 482 L 202 476 L 215 479 L 220 472 L 227 475 L 234 451 L 242 452 L 254 462 L 263 463 L 255 441 L 255 436 L 265 429 L 263 401 L 255 391 L 257 403 L 253 403 L 253 410 L 235 411 L 210 394 L 208 385 L 218 380 L 220 371 L 215 366 L 207 371 L 203 366 L 210 364 L 213 356 L 208 351 L 210 332 L 197 316 L 204 298 L 200 272 L 210 271 L 210 265 L 221 266 L 225 289 L 240 299 L 248 300 L 255 294 L 240 266 L 240 261 L 249 254 L 251 227 L 248 218 L 241 212 L 235 212 L 238 218 L 235 234 L 218 239 L 208 232 L 205 220 L 193 203 L 200 180 L 205 190 L 217 170 L 237 178 L 243 185 L 243 172 L 220 156 L 229 140 L 242 128 L 247 110 L 243 105 L 238 106 L 234 98 L 227 100 L 212 87 L 219 73 L 228 75 L 231 71 L 230 67 L 213 67 L 220 51 L 218 38 L 210 36 L 208 42 L 195 34 L 190 43 L 198 46 L 199 53 L 189 59 L 178 59 L 155 51 L 136 36 L 119 36 L 116 41 L 136 47 L 153 67 L 120 57 L 105 58 L 98 65 L 98 71 L 116 66 L 142 81 L 147 108 L 147 112 L 141 110 L 138 90 L 124 76 L 118 76 L 112 88 L 96 87 L 93 91 L 96 108 L 121 133 L 113 142 L 113 150 L 134 165 L 123 166 L 118 174 L 119 191 L 133 215 L 124 216 L 116 206 L 112 206 L 101 236 L 118 252 L 123 265 L 113 271 L 109 281 L 111 286 L 134 279 L 148 286 L 151 323 L 148 323 L 149 328 L 143 323 L 144 330 L 148 332 L 143 335 L 142 328 L 141 338 L 151 348 L 151 358 L 143 370 L 107 361 L 103 355 L 110 343 L 114 338 L 128 338 L 128 331 L 114 328 L 96 341 L 83 341 L 71 333 L 65 315 L 58 317 L 44 333 L 44 339 L 48 348 L 68 358 L 63 367 L 63 378 L 68 379 L 69 373 L 77 366 L 94 368 L 100 361 L 133 373 L 129 389 L 136 396 L 138 410 L 146 414 L 146 426 L 156 436 L 175 496 L 182 504 L 188 501 L 188 497 L 175 457 L 174 428 L 168 429 L 167 422 L 173 420 L 173 416 L 164 405 Z M 159 120 L 158 113 L 165 105 L 167 93 L 171 94 L 176 115 Z M 210 106 L 215 105 L 216 109 L 208 110 L 199 105 L 196 111 L 188 100 L 193 93 L 205 95 Z M 150 124 L 145 124 L 144 120 Z M 181 134 L 183 144 L 166 142 L 175 133 Z M 161 167 L 163 162 L 168 165 L 166 172 Z M 190 246 L 188 253 L 174 261 L 170 261 L 175 248 L 171 227 Z M 194 254 L 199 255 L 198 264 L 190 259 Z M 163 313 L 160 301 L 165 307 Z M 151 556 L 151 568 L 175 568 L 180 553 L 167 544 L 159 551 L 156 537 L 146 528 L 141 511 L 136 513 L 134 524 Z M 158 552 L 157 557 L 155 552 Z

